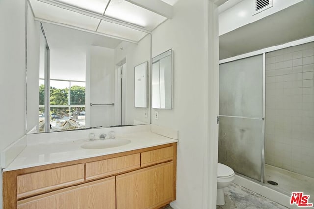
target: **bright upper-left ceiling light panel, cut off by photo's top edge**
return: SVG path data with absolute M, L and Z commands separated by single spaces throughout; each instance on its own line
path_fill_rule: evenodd
M 109 0 L 55 0 L 80 9 L 103 15 Z

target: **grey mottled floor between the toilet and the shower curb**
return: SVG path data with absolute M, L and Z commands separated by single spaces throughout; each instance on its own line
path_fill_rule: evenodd
M 251 190 L 232 183 L 225 191 L 225 205 L 217 209 L 288 209 Z

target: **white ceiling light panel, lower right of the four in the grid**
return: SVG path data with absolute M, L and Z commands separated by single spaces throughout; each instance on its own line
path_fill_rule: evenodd
M 119 24 L 110 23 L 107 21 L 103 21 L 100 23 L 97 32 L 104 33 L 111 36 L 121 37 L 124 39 L 129 39 L 132 41 L 139 41 L 147 33 L 131 29 L 129 27 L 125 27 Z

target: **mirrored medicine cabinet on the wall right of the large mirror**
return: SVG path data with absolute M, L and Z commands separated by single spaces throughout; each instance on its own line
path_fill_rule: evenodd
M 152 59 L 152 108 L 172 108 L 172 49 Z

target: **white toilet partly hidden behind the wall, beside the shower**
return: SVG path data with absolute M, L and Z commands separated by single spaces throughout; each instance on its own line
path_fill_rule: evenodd
M 217 205 L 225 205 L 223 188 L 229 186 L 235 179 L 235 172 L 227 165 L 218 163 L 217 171 Z

